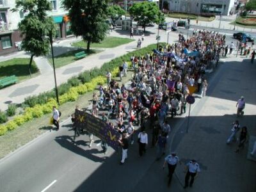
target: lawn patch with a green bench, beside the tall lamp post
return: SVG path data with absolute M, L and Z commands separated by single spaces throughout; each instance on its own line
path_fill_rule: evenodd
M 73 63 L 74 61 L 77 61 L 77 59 L 75 57 L 75 54 L 77 52 L 81 52 L 81 51 L 84 51 L 84 49 L 78 49 L 78 50 L 74 50 L 74 51 L 69 51 L 69 52 L 66 52 L 64 54 L 60 54 L 60 55 L 54 57 L 55 67 L 56 68 L 63 67 L 65 65 Z M 89 56 L 90 54 L 94 54 L 94 53 L 97 53 L 97 52 L 100 52 L 100 51 L 96 51 L 96 50 L 90 50 L 89 52 L 85 51 L 86 56 Z M 52 58 L 48 58 L 48 61 L 52 65 Z

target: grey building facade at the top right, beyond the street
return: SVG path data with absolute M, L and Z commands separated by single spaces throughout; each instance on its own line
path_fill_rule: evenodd
M 171 12 L 182 13 L 214 13 L 216 15 L 230 15 L 234 12 L 236 0 L 169 0 Z

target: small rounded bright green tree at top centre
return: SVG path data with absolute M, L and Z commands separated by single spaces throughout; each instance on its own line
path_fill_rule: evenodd
M 150 22 L 161 23 L 164 22 L 164 15 L 159 10 L 159 7 L 154 2 L 143 1 L 141 3 L 135 3 L 129 9 L 130 14 L 134 20 L 138 21 L 143 28 L 144 33 L 146 26 Z

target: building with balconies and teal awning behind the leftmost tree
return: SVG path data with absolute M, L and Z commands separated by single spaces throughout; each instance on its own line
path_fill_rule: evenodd
M 52 17 L 56 25 L 57 33 L 55 38 L 62 39 L 72 36 L 70 21 L 67 11 L 62 8 L 62 0 L 49 0 L 52 11 L 47 14 Z M 26 13 L 12 12 L 15 8 L 15 0 L 0 0 L 0 55 L 9 54 L 18 50 L 22 41 L 18 30 L 18 24 Z

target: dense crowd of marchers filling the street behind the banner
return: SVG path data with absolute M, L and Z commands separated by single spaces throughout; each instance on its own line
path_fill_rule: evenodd
M 225 54 L 226 47 L 225 35 L 209 31 L 193 31 L 193 36 L 186 40 L 180 33 L 179 42 L 164 47 L 159 46 L 154 54 L 131 56 L 134 74 L 129 85 L 119 84 L 112 78 L 111 72 L 106 73 L 108 86 L 102 84 L 99 86 L 99 98 L 93 93 L 92 115 L 98 117 L 99 109 L 104 111 L 101 114 L 102 120 L 120 132 L 120 140 L 118 140 L 122 146 L 120 164 L 125 163 L 129 145 L 134 143 L 135 125 L 140 127 L 137 139 L 139 156 L 145 154 L 150 137 L 151 146 L 157 147 L 156 158 L 161 159 L 165 154 L 171 132 L 167 117 L 170 115 L 174 118 L 186 113 L 186 97 L 189 94 L 200 92 L 200 97 L 205 96 L 207 92 L 205 70 L 218 67 L 220 56 Z M 126 61 L 120 65 L 120 81 L 123 76 L 127 76 L 128 67 Z M 146 129 L 146 127 L 150 128 Z M 151 136 L 148 136 L 149 130 Z M 93 135 L 89 135 L 90 147 L 92 147 Z M 230 136 L 227 143 L 232 138 L 233 136 Z M 104 152 L 108 152 L 108 144 L 102 141 L 101 145 Z M 163 168 L 168 164 L 169 169 L 168 184 L 172 180 L 177 163 L 179 157 L 175 152 L 164 158 Z M 198 163 L 195 160 L 189 161 L 186 164 L 186 172 L 184 188 L 188 185 L 193 186 L 194 177 L 200 172 Z M 190 182 L 189 177 L 191 177 Z

